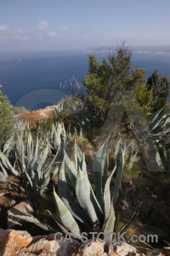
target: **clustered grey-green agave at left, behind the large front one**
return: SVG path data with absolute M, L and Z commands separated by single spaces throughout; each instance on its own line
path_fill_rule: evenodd
M 31 132 L 29 133 L 26 143 L 24 143 L 22 136 L 18 134 L 18 139 L 12 150 L 15 156 L 14 166 L 10 163 L 8 157 L 0 152 L 0 166 L 3 170 L 3 177 L 8 178 L 6 167 L 8 171 L 16 176 L 20 177 L 23 175 L 26 177 L 30 184 L 31 192 L 35 195 L 41 195 L 48 185 L 51 173 L 56 169 L 56 167 L 54 167 L 54 161 L 56 160 L 59 150 L 53 157 L 53 160 L 47 163 L 50 150 L 49 143 L 45 143 L 44 141 L 40 143 L 37 137 L 37 142 L 34 144 Z

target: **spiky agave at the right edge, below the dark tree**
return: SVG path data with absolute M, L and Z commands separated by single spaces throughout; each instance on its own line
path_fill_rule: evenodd
M 170 114 L 161 114 L 162 108 L 150 116 L 147 125 L 136 132 L 140 144 L 147 149 L 154 171 L 170 176 Z

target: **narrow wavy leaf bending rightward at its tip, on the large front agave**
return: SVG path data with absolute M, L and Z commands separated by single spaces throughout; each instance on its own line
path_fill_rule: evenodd
M 105 203 L 105 221 L 110 216 L 111 212 L 111 189 L 110 189 L 110 183 L 111 183 L 111 177 L 113 176 L 114 172 L 116 171 L 116 165 L 113 168 L 113 171 L 110 174 L 110 177 L 108 177 L 106 183 L 105 183 L 105 191 L 104 191 L 104 203 Z

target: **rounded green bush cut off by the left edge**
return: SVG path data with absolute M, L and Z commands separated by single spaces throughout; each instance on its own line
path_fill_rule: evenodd
M 14 125 L 13 106 L 3 95 L 3 86 L 0 85 L 0 146 L 10 137 Z

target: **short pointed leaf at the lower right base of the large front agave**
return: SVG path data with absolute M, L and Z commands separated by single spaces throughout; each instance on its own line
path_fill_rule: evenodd
M 114 208 L 113 208 L 113 202 L 111 200 L 111 213 L 110 213 L 109 218 L 107 219 L 107 222 L 105 224 L 105 230 L 104 230 L 105 235 L 107 235 L 106 239 L 105 239 L 106 244 L 110 244 L 111 241 L 112 241 L 112 235 L 110 235 L 110 234 L 114 230 L 115 221 L 116 221 L 115 211 L 114 211 Z

